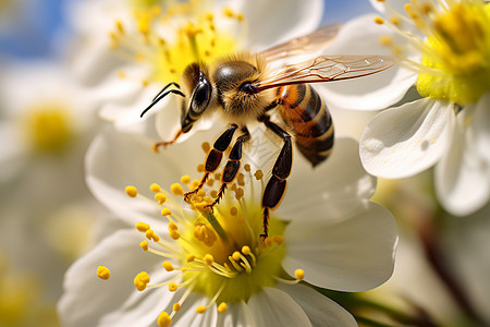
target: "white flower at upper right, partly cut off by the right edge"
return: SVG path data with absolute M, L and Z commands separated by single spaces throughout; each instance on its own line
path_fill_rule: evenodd
M 436 192 L 443 207 L 469 215 L 490 198 L 489 5 L 479 0 L 372 2 L 389 23 L 377 17 L 384 26 L 376 26 L 375 17 L 365 16 L 346 29 L 355 29 L 373 52 L 381 44 L 391 49 L 406 78 L 399 83 L 393 76 L 384 85 L 354 81 L 369 90 L 354 102 L 371 107 L 377 102 L 372 96 L 379 96 L 382 109 L 400 100 L 413 82 L 426 98 L 385 110 L 367 125 L 360 140 L 363 165 L 390 179 L 436 165 Z

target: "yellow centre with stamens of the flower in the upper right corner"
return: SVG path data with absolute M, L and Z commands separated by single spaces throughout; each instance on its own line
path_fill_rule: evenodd
M 390 20 L 391 27 L 420 51 L 420 63 L 403 57 L 399 45 L 385 38 L 382 43 L 419 73 L 420 95 L 460 105 L 475 102 L 490 90 L 490 7 L 481 0 L 439 3 L 413 1 L 405 5 L 406 16 L 394 13 Z M 402 31 L 402 22 L 414 25 L 425 39 Z

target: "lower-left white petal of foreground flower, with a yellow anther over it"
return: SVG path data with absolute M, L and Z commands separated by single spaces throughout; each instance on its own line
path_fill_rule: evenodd
M 135 292 L 133 278 L 159 264 L 155 256 L 142 251 L 140 241 L 136 230 L 120 230 L 70 267 L 63 283 L 64 294 L 58 304 L 63 325 L 96 326 L 102 316 Z M 100 265 L 111 270 L 109 280 L 97 277 Z

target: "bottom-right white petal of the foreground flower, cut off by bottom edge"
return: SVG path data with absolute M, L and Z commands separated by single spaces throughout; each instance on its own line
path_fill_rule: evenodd
M 304 284 L 278 284 L 303 307 L 313 326 L 348 327 L 357 326 L 354 317 L 329 298 Z

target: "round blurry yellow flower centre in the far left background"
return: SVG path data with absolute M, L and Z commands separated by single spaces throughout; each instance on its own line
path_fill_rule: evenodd
M 58 104 L 46 104 L 27 110 L 22 123 L 24 138 L 33 152 L 38 154 L 63 153 L 75 136 L 70 111 Z

